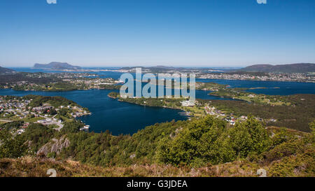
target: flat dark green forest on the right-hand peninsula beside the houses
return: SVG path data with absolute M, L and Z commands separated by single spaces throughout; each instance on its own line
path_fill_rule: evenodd
M 287 127 L 302 132 L 310 132 L 309 122 L 315 120 L 315 96 L 314 94 L 295 94 L 286 96 L 290 105 L 272 106 L 269 104 L 255 104 L 247 101 L 236 100 L 204 100 L 197 99 L 201 104 L 210 104 L 225 113 L 234 115 L 254 115 L 263 119 L 275 119 L 267 125 Z

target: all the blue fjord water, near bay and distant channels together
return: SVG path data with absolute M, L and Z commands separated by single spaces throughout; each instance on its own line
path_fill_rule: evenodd
M 26 72 L 59 72 L 46 71 L 29 68 L 14 68 L 16 71 Z M 113 71 L 97 72 L 102 78 L 120 78 L 122 73 Z M 270 82 L 252 80 L 211 80 L 196 79 L 199 82 L 213 82 L 230 85 L 231 87 L 279 87 L 279 89 L 256 89 L 248 90 L 258 94 L 315 94 L 315 83 L 295 83 L 295 82 Z M 144 85 L 144 84 L 143 84 Z M 169 108 L 155 108 L 148 106 L 138 106 L 125 102 L 116 101 L 107 97 L 113 90 L 76 90 L 71 92 L 34 92 L 0 90 L 1 95 L 24 96 L 27 94 L 38 94 L 44 96 L 62 96 L 76 101 L 83 107 L 89 108 L 92 115 L 80 118 L 87 125 L 91 126 L 94 132 L 105 132 L 109 129 L 114 135 L 133 134 L 139 129 L 156 122 L 166 122 L 171 120 L 186 120 L 188 117 L 181 115 L 182 111 Z M 116 90 L 118 92 L 118 90 Z M 223 99 L 208 95 L 210 91 L 196 90 L 198 99 Z

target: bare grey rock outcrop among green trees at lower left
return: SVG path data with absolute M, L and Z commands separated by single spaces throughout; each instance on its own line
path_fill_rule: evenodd
M 52 139 L 48 143 L 46 143 L 44 146 L 42 146 L 36 153 L 36 155 L 45 155 L 47 156 L 48 153 L 56 153 L 59 155 L 59 153 L 62 152 L 63 148 L 67 148 L 70 146 L 69 139 L 62 137 L 60 139 Z

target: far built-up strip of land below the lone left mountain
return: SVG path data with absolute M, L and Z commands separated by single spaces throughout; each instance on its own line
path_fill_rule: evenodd
M 12 78 L 12 79 L 11 79 Z M 25 91 L 118 90 L 121 80 L 99 78 L 91 73 L 15 73 L 6 76 L 0 89 Z

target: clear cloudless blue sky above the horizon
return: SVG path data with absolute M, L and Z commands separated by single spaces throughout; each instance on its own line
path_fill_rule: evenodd
M 314 0 L 1 0 L 0 66 L 315 63 Z

